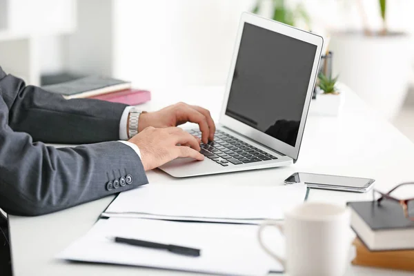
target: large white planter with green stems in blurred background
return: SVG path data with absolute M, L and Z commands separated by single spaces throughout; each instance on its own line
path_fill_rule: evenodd
M 364 23 L 363 31 L 335 32 L 330 48 L 335 54 L 333 74 L 359 97 L 392 119 L 406 97 L 411 72 L 410 38 L 388 30 L 386 0 L 377 0 L 380 30 L 371 30 L 362 0 L 354 0 Z

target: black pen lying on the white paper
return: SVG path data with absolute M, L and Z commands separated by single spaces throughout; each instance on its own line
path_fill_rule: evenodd
M 171 253 L 175 253 L 179 255 L 186 255 L 186 256 L 191 256 L 191 257 L 199 257 L 200 255 L 200 250 L 197 248 L 176 246 L 174 244 L 159 244 L 157 242 L 146 242 L 140 239 L 127 239 L 124 237 L 108 237 L 108 239 L 111 239 L 114 242 L 118 242 L 121 244 L 129 244 L 131 246 L 141 246 L 141 247 L 147 247 L 147 248 L 168 250 Z

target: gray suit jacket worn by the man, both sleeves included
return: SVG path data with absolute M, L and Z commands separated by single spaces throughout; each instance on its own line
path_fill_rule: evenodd
M 125 107 L 66 100 L 0 67 L 0 208 L 42 215 L 147 184 L 137 153 L 114 141 Z

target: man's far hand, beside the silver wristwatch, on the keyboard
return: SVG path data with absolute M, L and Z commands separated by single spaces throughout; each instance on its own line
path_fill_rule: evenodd
M 210 112 L 199 106 L 190 106 L 186 103 L 176 103 L 159 111 L 141 113 L 138 122 L 138 132 L 141 132 L 141 130 L 148 126 L 168 128 L 170 126 L 179 126 L 188 121 L 199 125 L 201 141 L 206 144 L 208 140 L 213 141 L 215 124 L 213 119 L 211 119 Z

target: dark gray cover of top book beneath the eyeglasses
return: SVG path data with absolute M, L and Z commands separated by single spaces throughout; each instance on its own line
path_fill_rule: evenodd
M 373 230 L 413 229 L 414 221 L 406 218 L 402 206 L 395 201 L 355 201 L 347 204 Z

